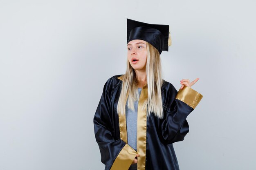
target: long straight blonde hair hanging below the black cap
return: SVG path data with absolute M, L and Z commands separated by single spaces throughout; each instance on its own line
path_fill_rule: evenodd
M 150 112 L 154 113 L 156 117 L 163 118 L 163 106 L 161 87 L 163 84 L 162 67 L 158 50 L 146 42 L 147 46 L 147 62 L 146 62 L 146 76 L 148 86 L 148 99 L 145 100 L 142 109 L 147 107 L 147 116 Z M 137 75 L 135 70 L 127 60 L 127 69 L 123 77 L 122 89 L 117 104 L 117 113 L 123 115 L 126 112 L 126 102 L 128 108 L 134 109 L 134 102 L 139 100 L 139 93 L 137 91 Z

